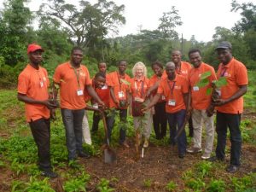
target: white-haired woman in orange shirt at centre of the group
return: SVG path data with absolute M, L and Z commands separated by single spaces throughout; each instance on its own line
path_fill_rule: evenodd
M 131 79 L 131 108 L 133 116 L 134 129 L 138 143 L 140 144 L 141 135 L 144 137 L 143 148 L 148 148 L 148 140 L 151 133 L 152 117 L 148 111 L 142 113 L 149 100 L 146 99 L 146 93 L 149 89 L 149 79 L 147 78 L 147 68 L 143 62 L 137 62 L 132 68 L 133 79 Z

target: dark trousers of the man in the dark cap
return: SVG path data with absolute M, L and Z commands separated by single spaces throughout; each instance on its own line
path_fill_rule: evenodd
M 220 159 L 225 157 L 225 146 L 227 138 L 227 129 L 230 129 L 230 164 L 240 166 L 240 155 L 241 155 L 241 131 L 240 122 L 241 114 L 232 113 L 220 113 L 217 112 L 216 116 L 216 131 L 218 135 L 216 156 Z

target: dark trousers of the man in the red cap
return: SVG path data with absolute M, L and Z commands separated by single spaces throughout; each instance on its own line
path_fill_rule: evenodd
M 32 136 L 38 147 L 38 166 L 42 171 L 51 170 L 50 166 L 50 130 L 49 119 L 38 119 L 29 123 Z

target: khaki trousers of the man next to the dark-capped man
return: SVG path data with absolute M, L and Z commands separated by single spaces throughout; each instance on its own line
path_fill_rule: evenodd
M 201 148 L 201 135 L 202 135 L 202 125 L 206 126 L 206 144 L 205 153 L 212 153 L 212 144 L 214 139 L 214 128 L 213 128 L 213 115 L 212 117 L 207 116 L 207 111 L 205 109 L 198 110 L 193 109 L 192 111 L 192 121 L 194 127 L 193 143 L 195 148 Z

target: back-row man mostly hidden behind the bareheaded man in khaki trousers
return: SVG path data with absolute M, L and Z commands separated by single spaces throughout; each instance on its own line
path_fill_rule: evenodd
M 191 65 L 189 62 L 182 61 L 182 54 L 179 50 L 173 50 L 171 56 L 172 62 L 175 64 L 175 71 L 177 74 L 182 75 L 184 78 L 188 79 L 189 70 Z M 189 137 L 193 137 L 193 123 L 192 118 L 189 118 Z

